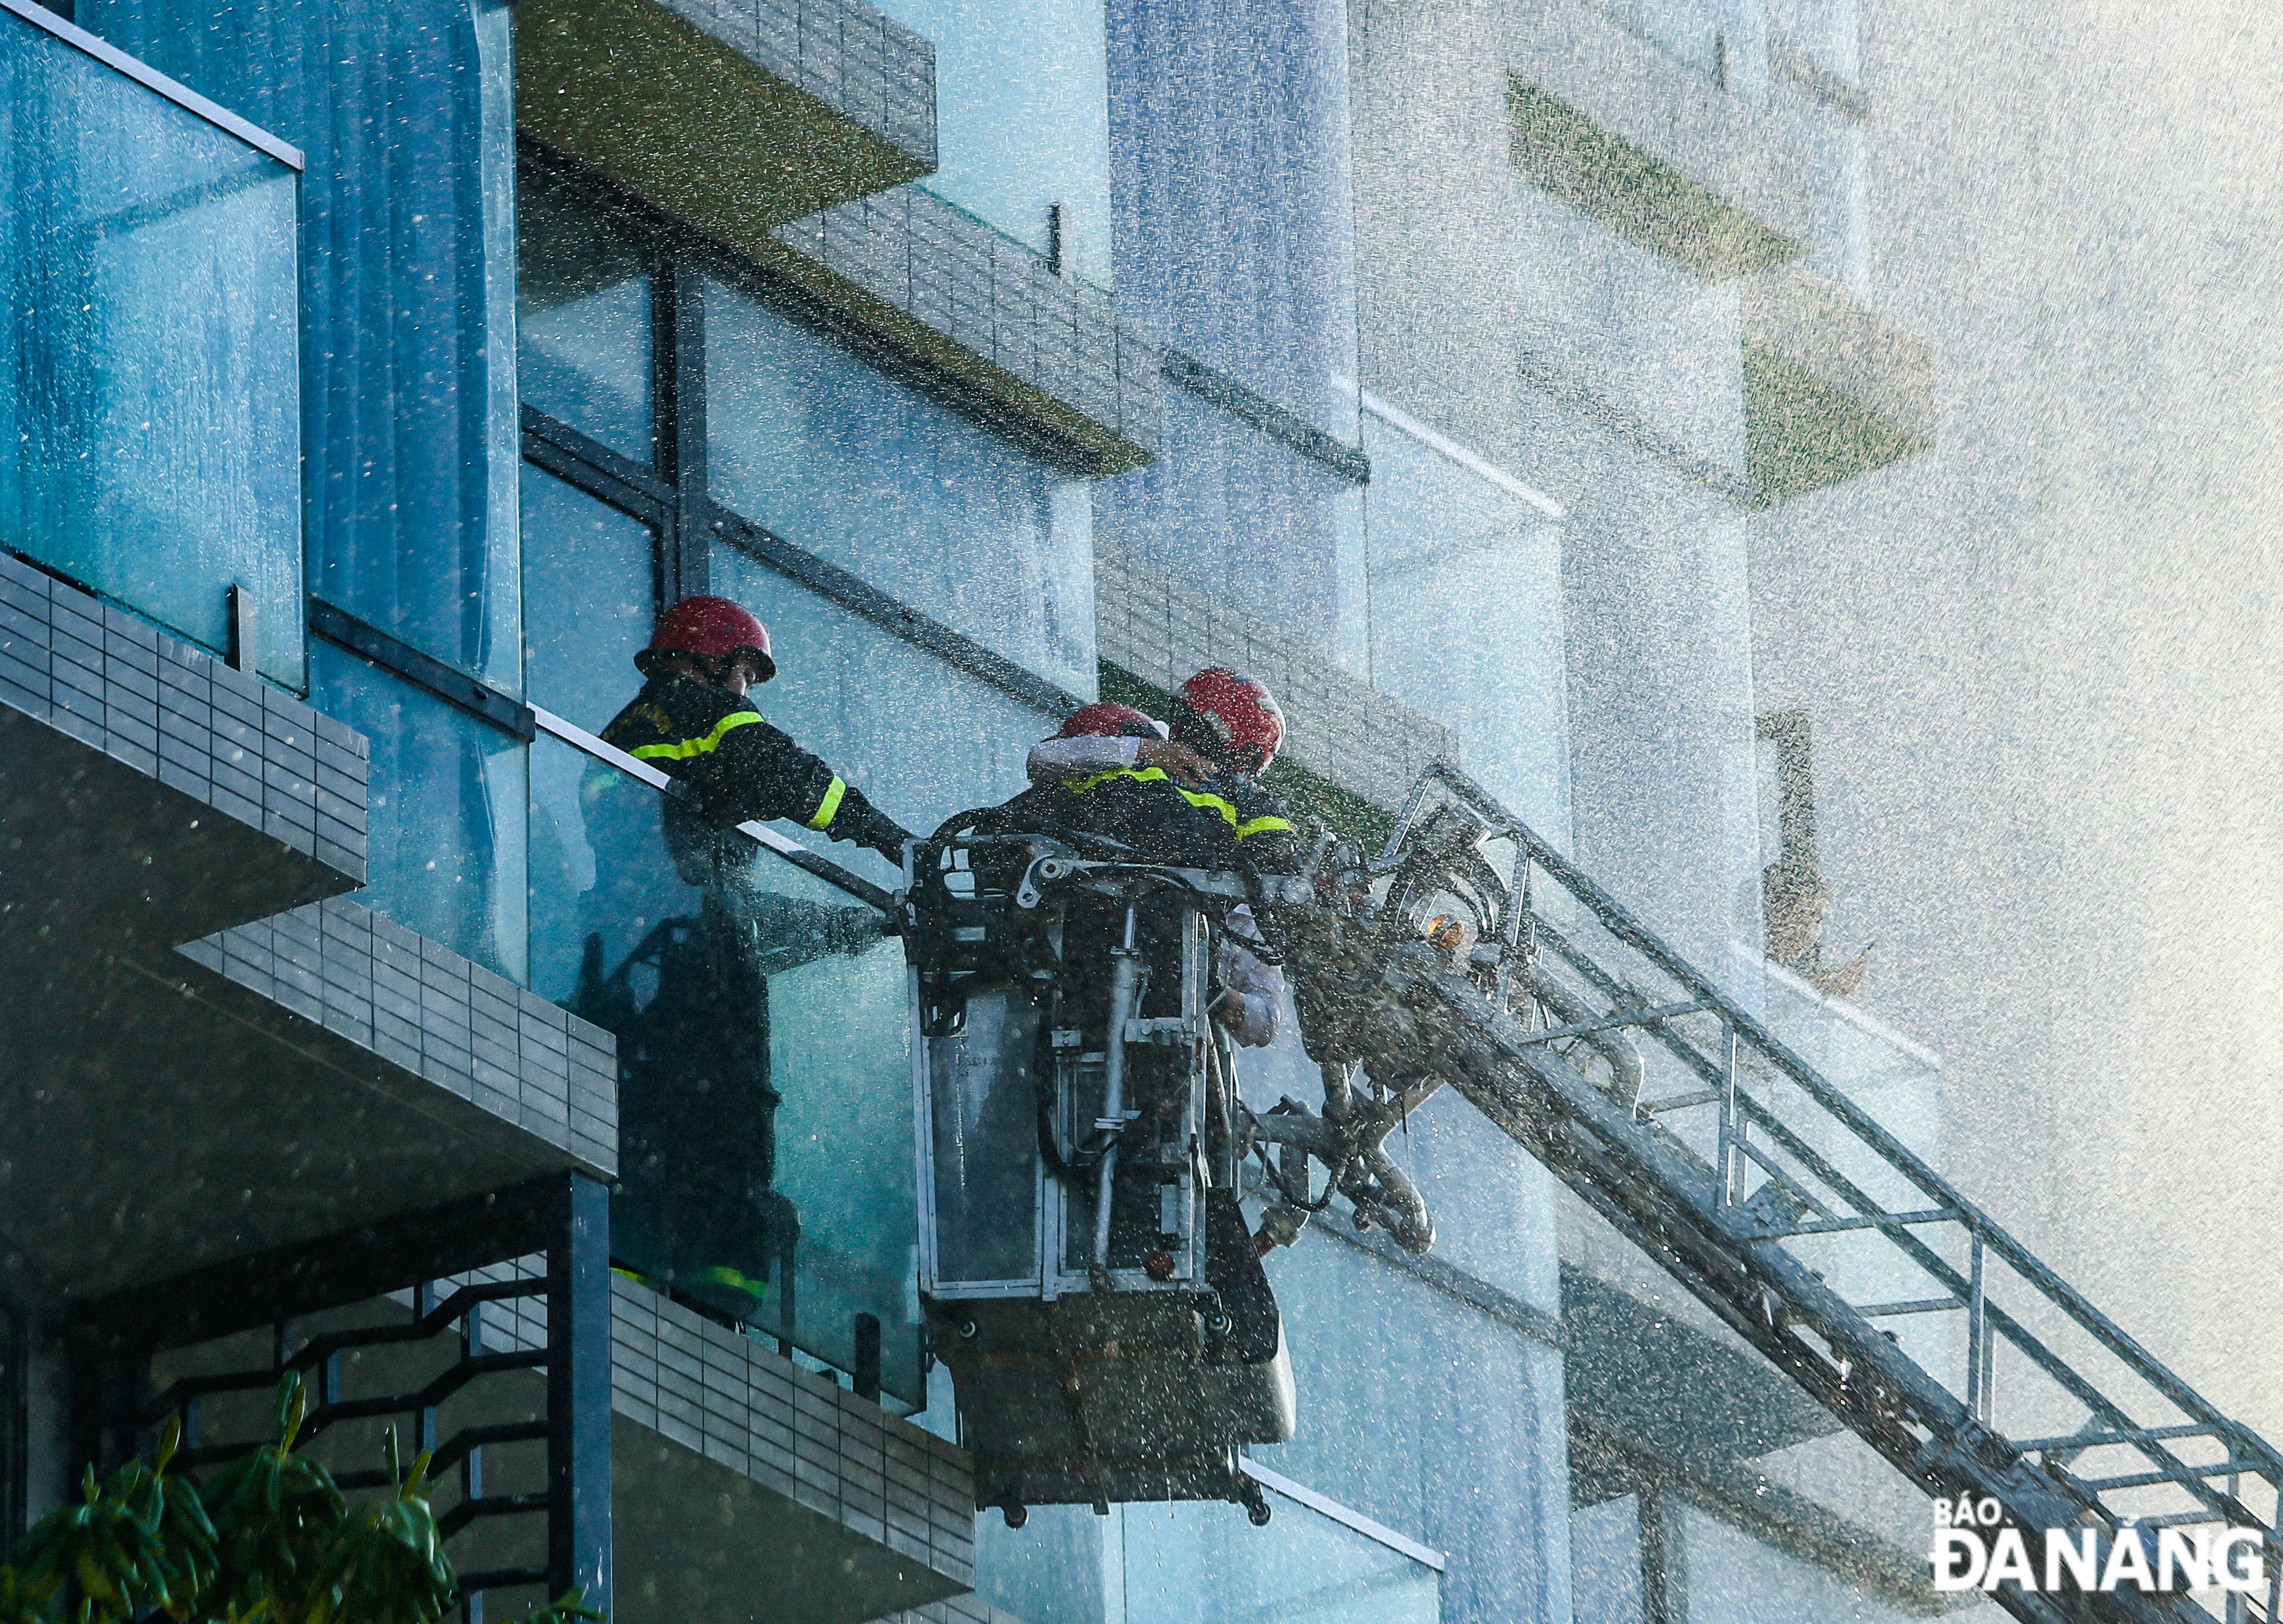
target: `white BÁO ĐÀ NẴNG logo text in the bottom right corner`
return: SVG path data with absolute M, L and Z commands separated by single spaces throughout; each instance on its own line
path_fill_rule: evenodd
M 2135 1528 L 2100 1537 L 2094 1528 L 2046 1528 L 2043 1567 L 2030 1537 L 2004 1528 L 1998 1501 L 1934 1503 L 1934 1587 L 1995 1590 L 2258 1590 L 2267 1583 L 2258 1528 Z

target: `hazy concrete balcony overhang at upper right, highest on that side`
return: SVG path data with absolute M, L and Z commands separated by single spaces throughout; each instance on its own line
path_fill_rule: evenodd
M 1808 249 L 1806 160 L 1605 16 L 1566 0 L 1518 16 L 1507 114 L 1516 174 L 1705 281 Z

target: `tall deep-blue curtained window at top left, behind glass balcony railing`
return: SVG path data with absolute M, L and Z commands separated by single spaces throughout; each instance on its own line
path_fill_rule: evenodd
M 518 692 L 509 7 L 78 0 L 75 16 L 308 153 L 306 585 Z

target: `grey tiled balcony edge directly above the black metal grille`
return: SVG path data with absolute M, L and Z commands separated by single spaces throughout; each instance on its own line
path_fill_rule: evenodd
M 616 1039 L 345 898 L 178 948 L 240 987 L 619 1169 Z

